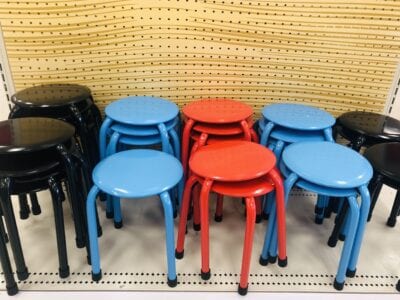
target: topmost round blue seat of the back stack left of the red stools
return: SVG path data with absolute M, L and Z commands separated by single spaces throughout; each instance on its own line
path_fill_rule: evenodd
M 112 120 L 129 125 L 157 125 L 175 119 L 178 106 L 168 100 L 153 97 L 126 97 L 112 102 L 105 109 Z

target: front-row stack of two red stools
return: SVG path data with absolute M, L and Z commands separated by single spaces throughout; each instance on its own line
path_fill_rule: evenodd
M 184 253 L 187 215 L 191 189 L 202 185 L 200 193 L 201 217 L 201 277 L 210 278 L 208 198 L 210 191 L 220 195 L 244 197 L 246 200 L 246 231 L 243 246 L 242 270 L 238 292 L 247 293 L 251 250 L 253 246 L 256 207 L 254 197 L 276 192 L 279 258 L 286 262 L 286 228 L 282 178 L 275 168 L 274 154 L 267 148 L 251 142 L 220 142 L 207 145 L 193 154 L 189 161 L 191 176 L 183 193 L 179 220 L 176 258 Z

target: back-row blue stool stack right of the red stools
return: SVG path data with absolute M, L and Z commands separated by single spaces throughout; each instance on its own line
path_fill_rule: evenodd
M 333 142 L 332 126 L 335 118 L 328 112 L 302 104 L 272 104 L 264 107 L 259 121 L 260 144 L 268 146 L 277 158 L 279 166 L 283 149 L 293 143 Z M 272 194 L 270 195 L 270 197 Z M 315 222 L 321 224 L 328 198 L 318 197 Z M 264 218 L 268 218 L 272 205 L 269 199 L 264 205 Z

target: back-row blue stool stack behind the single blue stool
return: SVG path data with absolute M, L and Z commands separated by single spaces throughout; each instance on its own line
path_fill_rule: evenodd
M 150 146 L 161 144 L 162 151 L 180 157 L 178 106 L 168 100 L 153 97 L 126 97 L 109 104 L 105 109 L 105 119 L 100 129 L 100 157 L 116 153 L 126 146 Z M 183 190 L 179 184 L 178 202 Z M 117 227 L 122 225 L 114 214 L 108 198 L 107 217 L 114 217 Z M 175 203 L 175 202 L 174 202 Z M 119 207 L 118 205 L 116 207 Z

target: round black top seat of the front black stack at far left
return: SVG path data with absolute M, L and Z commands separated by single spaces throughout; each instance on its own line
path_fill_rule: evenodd
M 0 122 L 0 153 L 48 149 L 69 140 L 75 128 L 50 118 L 20 118 Z

